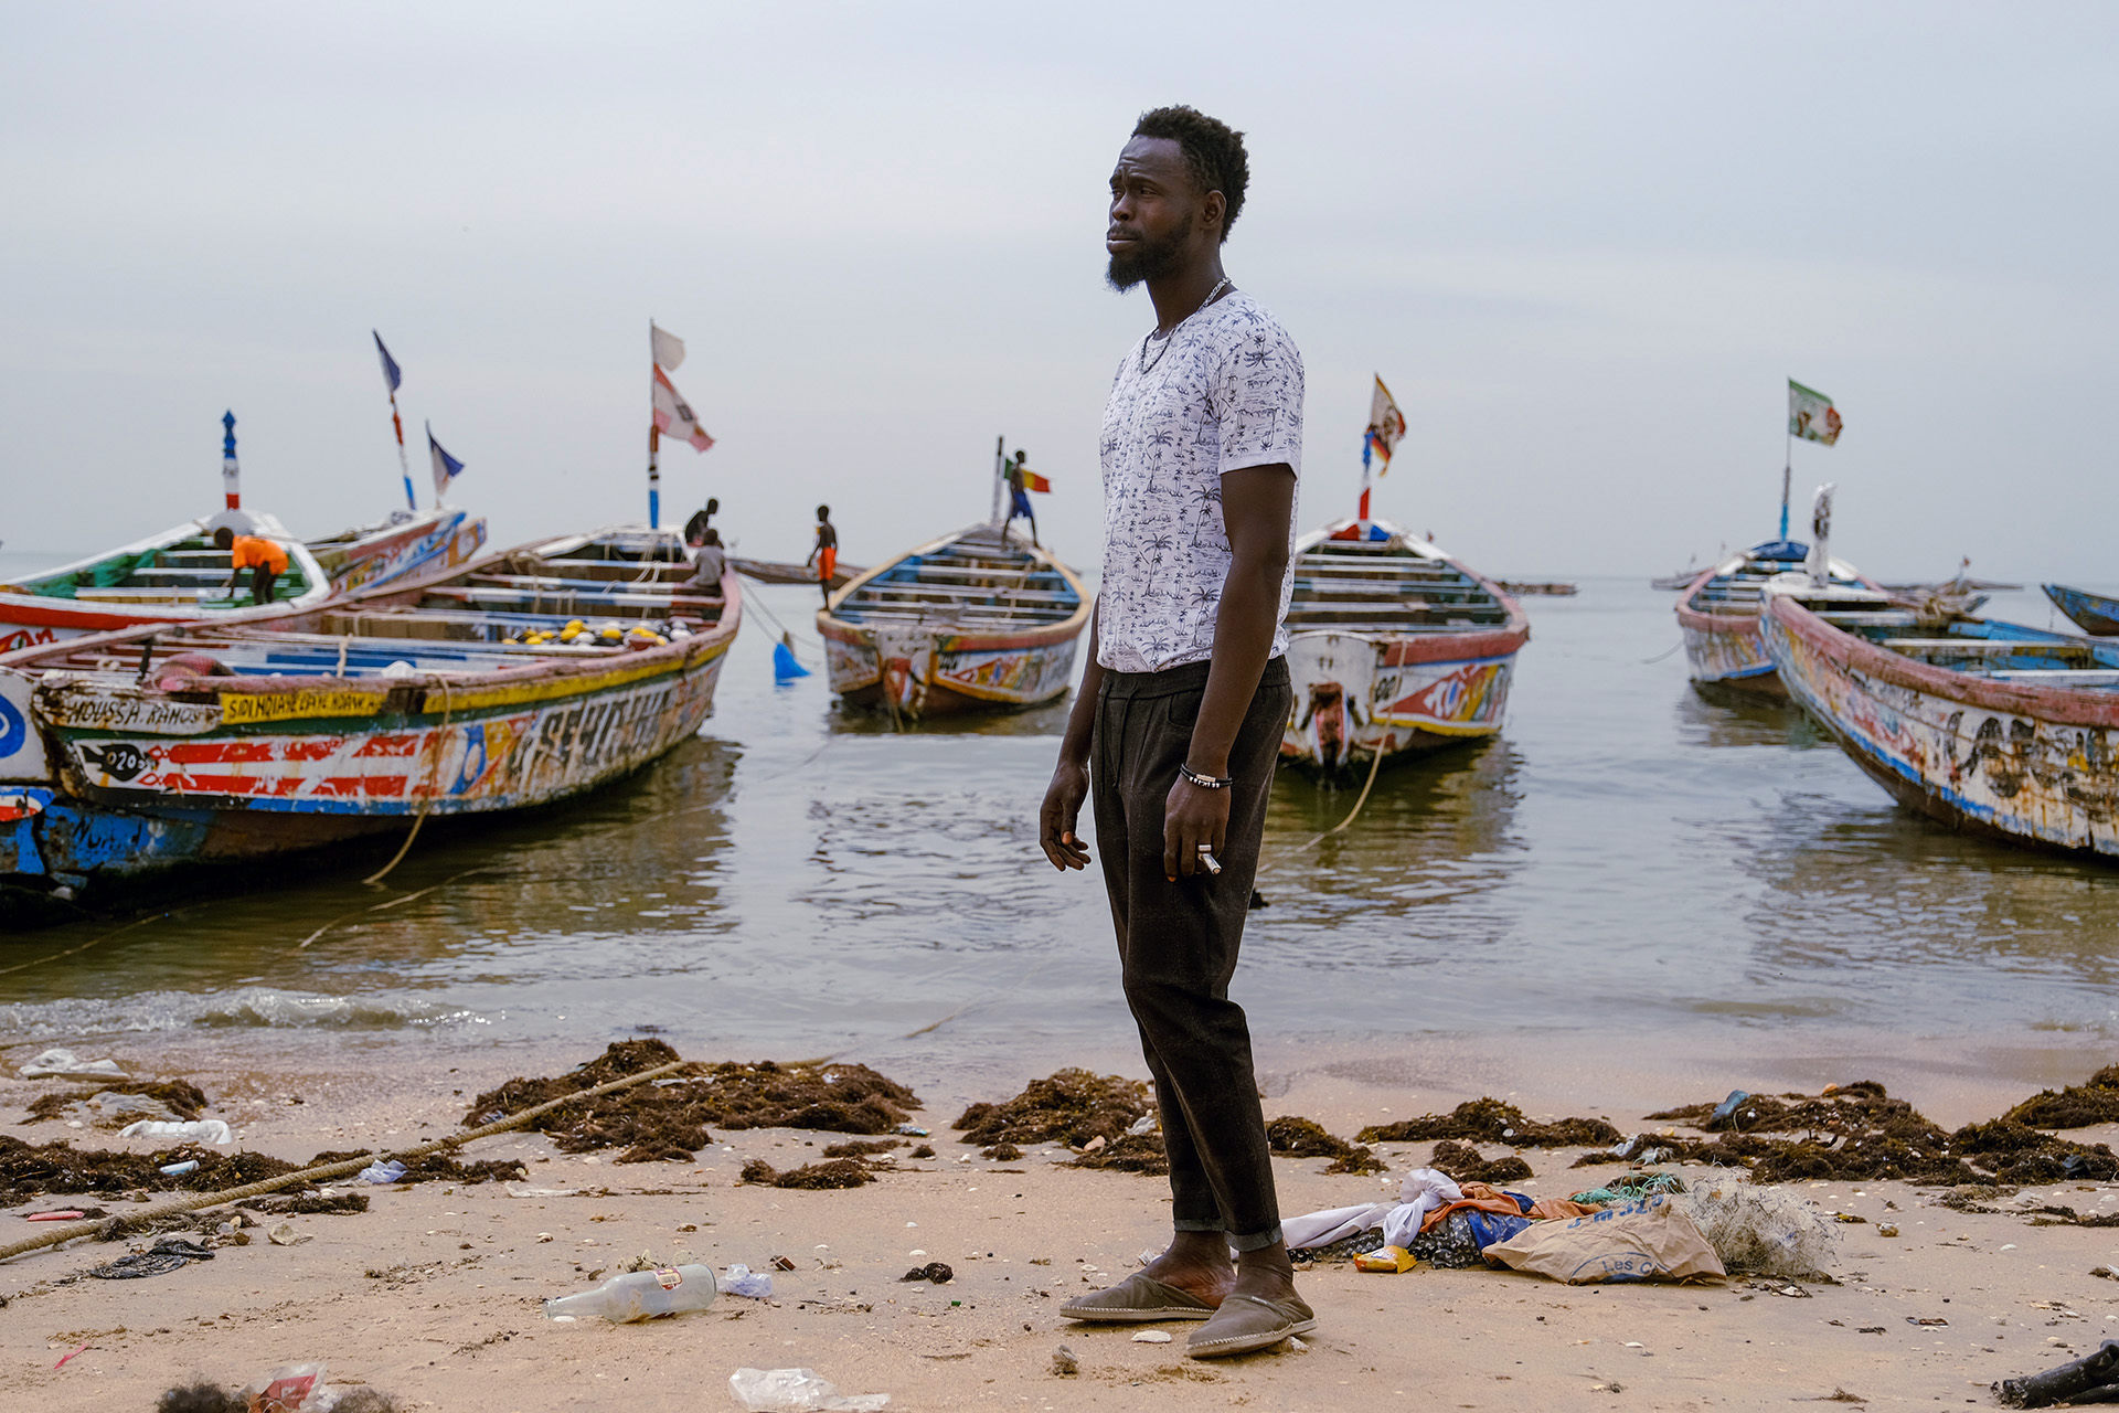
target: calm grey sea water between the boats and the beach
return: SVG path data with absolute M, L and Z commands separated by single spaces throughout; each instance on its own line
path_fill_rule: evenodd
M 807 589 L 759 600 L 814 644 Z M 1386 769 L 1318 847 L 1293 852 L 1356 792 L 1278 782 L 1235 983 L 1263 1036 L 2119 1030 L 2119 869 L 1952 835 L 1795 712 L 1704 701 L 1670 604 L 1640 578 L 1528 600 L 1507 733 Z M 2028 593 L 1990 612 L 2049 621 Z M 763 629 L 695 741 L 564 809 L 430 830 L 379 890 L 275 864 L 117 936 L 11 938 L 0 964 L 51 960 L 0 977 L 0 1036 L 1123 1051 L 1102 886 L 1036 852 L 1064 708 L 894 735 L 820 674 L 776 686 Z

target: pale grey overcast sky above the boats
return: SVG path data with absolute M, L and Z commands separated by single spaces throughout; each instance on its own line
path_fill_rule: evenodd
M 1310 373 L 1301 515 L 1496 574 L 1774 532 L 1784 379 L 1835 551 L 2119 578 L 2108 4 L 95 4 L 0 47 L 11 551 L 403 498 L 369 328 L 496 540 L 644 515 L 648 318 L 718 445 L 678 517 L 871 564 L 987 506 L 994 436 L 1100 559 L 1096 434 L 1153 320 L 1102 284 L 1134 117 L 1248 133 L 1233 280 Z M 1797 515 L 1801 519 L 1801 513 Z

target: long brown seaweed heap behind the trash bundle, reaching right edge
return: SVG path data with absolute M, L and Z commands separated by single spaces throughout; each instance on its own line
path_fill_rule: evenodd
M 1945 1131 L 1905 1099 L 1892 1099 L 1875 1080 L 1833 1085 L 1816 1095 L 1733 1093 L 1721 1104 L 1687 1104 L 1649 1119 L 1719 1133 L 1714 1142 L 1657 1138 L 1666 1159 L 1746 1167 L 1752 1182 L 1837 1178 L 2026 1186 L 2119 1178 L 2119 1157 L 2106 1144 L 2068 1142 L 2013 1116 Z M 1610 1150 L 1587 1152 L 1574 1165 L 1610 1163 L 1613 1157 Z

